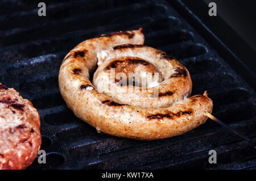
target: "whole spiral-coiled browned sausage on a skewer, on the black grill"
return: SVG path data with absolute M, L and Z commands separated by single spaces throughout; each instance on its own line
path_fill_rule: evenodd
M 166 53 L 143 43 L 141 30 L 121 31 L 86 40 L 72 49 L 59 72 L 60 92 L 67 106 L 97 131 L 139 140 L 172 137 L 203 124 L 207 120 L 205 112 L 212 112 L 212 100 L 203 95 L 187 98 L 192 89 L 188 70 Z M 92 83 L 90 75 L 97 62 Z M 106 82 L 123 89 L 109 79 L 109 68 L 130 68 L 143 74 L 135 70 L 135 65 L 160 74 L 158 96 L 148 98 L 150 86 L 146 93 L 131 96 L 127 92 L 108 94 L 101 86 Z

